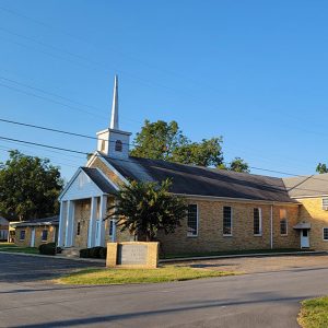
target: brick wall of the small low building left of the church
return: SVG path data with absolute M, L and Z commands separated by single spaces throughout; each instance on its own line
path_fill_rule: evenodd
M 32 229 L 31 226 L 25 226 L 25 227 L 16 227 L 15 229 L 15 245 L 16 246 L 22 246 L 22 247 L 30 247 L 31 246 L 31 237 L 32 237 Z M 57 226 L 36 226 L 35 227 L 35 243 L 34 246 L 38 247 L 40 244 L 47 244 L 47 243 L 52 243 L 55 241 L 55 235 L 57 234 Z M 20 234 L 21 231 L 25 230 L 25 239 L 20 241 Z M 42 233 L 44 230 L 48 231 L 48 238 L 47 241 L 42 241 Z

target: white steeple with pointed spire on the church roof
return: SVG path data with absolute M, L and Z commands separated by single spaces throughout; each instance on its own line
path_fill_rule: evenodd
M 114 159 L 128 159 L 130 132 L 119 130 L 118 126 L 118 78 L 114 79 L 114 93 L 109 128 L 97 132 L 97 151 Z

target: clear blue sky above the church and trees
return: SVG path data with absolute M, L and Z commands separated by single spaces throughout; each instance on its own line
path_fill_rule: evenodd
M 191 140 L 223 136 L 227 162 L 313 174 L 328 162 L 327 15 L 319 0 L 0 0 L 0 118 L 95 136 L 118 73 L 124 130 L 174 119 Z M 3 122 L 0 136 L 96 145 Z M 2 140 L 0 160 L 9 148 L 67 179 L 85 163 Z

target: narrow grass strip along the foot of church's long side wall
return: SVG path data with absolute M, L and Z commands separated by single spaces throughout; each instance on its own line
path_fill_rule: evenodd
M 245 249 L 245 250 L 231 250 L 231 251 L 208 251 L 208 253 L 184 253 L 184 254 L 165 254 L 161 259 L 172 259 L 181 257 L 202 257 L 202 256 L 220 256 L 220 255 L 245 255 L 245 254 L 267 254 L 267 253 L 294 253 L 294 251 L 309 251 L 312 249 L 300 248 L 277 248 L 277 249 Z

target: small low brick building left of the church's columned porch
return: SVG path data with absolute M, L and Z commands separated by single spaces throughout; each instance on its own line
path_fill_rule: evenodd
M 58 215 L 10 224 L 15 230 L 15 245 L 23 247 L 38 247 L 42 244 L 56 242 L 58 225 Z

